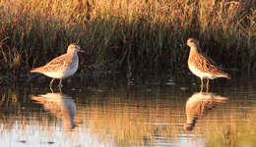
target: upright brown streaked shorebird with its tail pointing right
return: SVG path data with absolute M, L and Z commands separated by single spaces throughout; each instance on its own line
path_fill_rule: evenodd
M 224 73 L 220 68 L 215 66 L 216 64 L 211 58 L 202 53 L 197 39 L 189 38 L 187 45 L 190 47 L 188 68 L 192 73 L 201 78 L 201 90 L 204 86 L 204 78 L 207 78 L 207 88 L 209 86 L 209 78 L 230 78 L 227 73 Z

